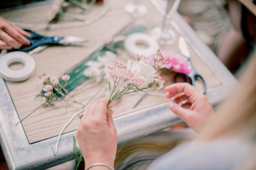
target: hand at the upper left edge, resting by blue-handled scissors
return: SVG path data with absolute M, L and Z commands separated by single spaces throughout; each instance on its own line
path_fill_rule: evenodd
M 30 34 L 0 17 L 0 50 L 29 46 L 30 41 L 25 36 Z

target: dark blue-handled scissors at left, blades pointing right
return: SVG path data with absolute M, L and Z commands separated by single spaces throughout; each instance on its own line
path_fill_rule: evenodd
M 49 45 L 66 46 L 66 45 L 77 45 L 83 42 L 88 42 L 88 39 L 85 39 L 83 37 L 74 37 L 74 36 L 47 37 L 44 35 L 40 35 L 31 30 L 25 29 L 24 31 L 31 34 L 30 37 L 27 37 L 27 39 L 29 39 L 31 43 L 30 46 L 22 46 L 20 49 L 12 49 L 11 51 L 29 52 L 29 54 L 32 54 L 34 52 L 44 50 Z

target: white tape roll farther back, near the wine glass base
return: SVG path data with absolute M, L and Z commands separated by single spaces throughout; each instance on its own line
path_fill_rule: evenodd
M 137 44 L 144 44 L 146 48 L 139 47 Z M 136 54 L 150 57 L 151 55 L 156 54 L 159 49 L 157 41 L 146 33 L 133 33 L 129 35 L 124 41 L 124 46 L 128 54 L 132 57 L 135 57 Z

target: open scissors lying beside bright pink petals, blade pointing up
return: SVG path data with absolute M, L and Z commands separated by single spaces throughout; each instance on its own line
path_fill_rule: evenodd
M 193 86 L 195 86 L 195 81 L 196 80 L 199 80 L 203 83 L 204 85 L 204 90 L 203 90 L 203 94 L 206 93 L 206 83 L 205 83 L 205 80 L 204 78 L 198 73 L 195 71 L 195 68 L 193 67 L 192 63 L 191 63 L 191 60 L 190 60 L 190 53 L 189 53 L 189 50 L 186 46 L 186 41 L 184 39 L 184 37 L 180 37 L 180 40 L 179 40 L 179 50 L 180 50 L 180 53 L 186 57 L 188 59 L 188 61 L 190 62 L 190 65 L 191 65 L 191 72 L 189 72 L 189 74 L 182 74 L 182 73 L 177 73 L 174 77 L 174 82 L 176 83 L 177 82 L 177 78 L 179 77 L 182 77 L 185 79 L 185 81 L 191 83 Z

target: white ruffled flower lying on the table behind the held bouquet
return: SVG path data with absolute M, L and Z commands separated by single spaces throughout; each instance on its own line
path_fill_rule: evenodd
M 112 61 L 116 57 L 116 54 L 107 51 L 105 55 L 103 55 L 102 57 L 98 57 L 97 61 L 89 61 L 87 63 L 87 66 L 89 66 L 89 68 L 85 70 L 84 75 L 89 78 L 95 78 L 96 82 L 101 81 L 103 78 L 110 78 L 108 66 L 112 65 Z

